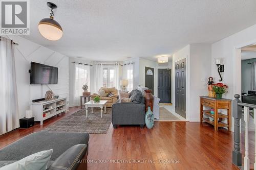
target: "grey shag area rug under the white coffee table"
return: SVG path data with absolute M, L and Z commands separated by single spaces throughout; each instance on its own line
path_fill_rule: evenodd
M 106 113 L 100 117 L 100 109 L 88 109 L 88 117 L 86 110 L 81 109 L 72 115 L 65 117 L 55 124 L 42 130 L 44 132 L 87 132 L 89 134 L 106 134 L 112 122 L 111 108 L 106 108 Z

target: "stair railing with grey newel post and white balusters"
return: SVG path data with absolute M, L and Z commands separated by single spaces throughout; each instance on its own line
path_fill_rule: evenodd
M 249 159 L 249 109 L 253 108 L 253 113 L 256 113 L 256 105 L 242 103 L 239 98 L 239 94 L 234 94 L 234 100 L 232 101 L 232 116 L 234 118 L 234 148 L 232 152 L 232 163 L 238 167 L 242 166 L 242 154 L 240 151 L 240 119 L 242 118 L 242 107 L 244 107 L 244 121 L 245 121 L 245 156 L 244 156 L 244 170 L 250 169 L 250 159 Z M 254 117 L 254 116 L 253 116 Z M 256 118 L 253 119 L 254 127 L 256 130 Z M 256 135 L 255 135 L 256 141 Z M 255 147 L 255 160 L 254 160 L 254 169 L 256 170 L 256 147 Z

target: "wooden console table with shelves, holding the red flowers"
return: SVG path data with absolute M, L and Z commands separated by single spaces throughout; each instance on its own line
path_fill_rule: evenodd
M 210 110 L 203 110 L 203 106 L 214 109 L 214 114 L 210 113 Z M 227 109 L 227 115 L 218 112 L 218 109 Z M 204 115 L 214 117 L 214 121 L 210 121 L 209 118 Z M 227 119 L 227 124 L 223 123 L 223 119 Z M 218 122 L 221 119 L 221 122 Z M 214 129 L 218 131 L 218 127 L 227 127 L 231 130 L 231 100 L 230 99 L 216 99 L 208 96 L 200 96 L 200 121 L 206 122 L 214 126 Z

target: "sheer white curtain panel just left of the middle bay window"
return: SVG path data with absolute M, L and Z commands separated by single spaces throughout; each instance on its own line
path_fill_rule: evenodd
M 94 85 L 92 92 L 97 93 L 100 87 L 103 86 L 103 66 L 102 64 L 95 64 L 93 67 Z

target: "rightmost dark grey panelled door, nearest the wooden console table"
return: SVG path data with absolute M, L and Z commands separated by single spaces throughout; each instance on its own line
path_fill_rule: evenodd
M 186 59 L 175 63 L 175 112 L 186 118 Z

